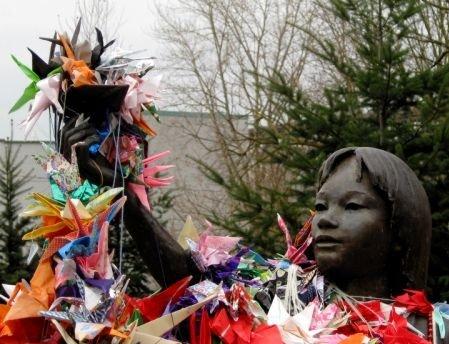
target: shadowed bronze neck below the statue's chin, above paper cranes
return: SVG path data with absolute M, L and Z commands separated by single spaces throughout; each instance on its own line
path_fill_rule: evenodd
M 390 298 L 386 276 L 362 276 L 345 281 L 335 281 L 335 284 L 348 295 Z

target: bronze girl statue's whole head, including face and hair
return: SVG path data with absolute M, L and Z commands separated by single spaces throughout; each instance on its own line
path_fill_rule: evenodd
M 320 169 L 316 211 L 318 269 L 337 286 L 364 283 L 355 290 L 365 295 L 425 287 L 430 207 L 401 159 L 369 147 L 336 151 Z

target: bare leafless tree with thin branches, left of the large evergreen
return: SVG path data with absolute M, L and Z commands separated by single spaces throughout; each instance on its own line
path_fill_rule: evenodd
M 311 26 L 312 18 L 308 2 L 179 0 L 157 10 L 171 104 L 204 114 L 182 124 L 202 147 L 201 156 L 192 155 L 237 182 L 281 188 L 284 171 L 281 166 L 268 171 L 259 164 L 262 154 L 251 128 L 261 122 L 275 125 L 280 116 L 269 101 L 264 78 L 282 73 L 291 85 L 303 82 L 308 55 L 302 29 Z M 200 194 L 185 192 L 197 198 L 186 196 L 180 202 L 182 215 L 207 213 L 218 204 L 224 212 L 236 206 L 224 195 L 217 199 L 206 184 L 197 186 L 203 189 Z M 213 201 L 204 199 L 208 195 Z

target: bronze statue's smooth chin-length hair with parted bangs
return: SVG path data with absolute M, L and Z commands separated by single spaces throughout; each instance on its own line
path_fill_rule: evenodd
M 413 170 L 397 156 L 372 147 L 350 147 L 331 154 L 320 168 L 318 190 L 335 168 L 355 156 L 358 179 L 366 171 L 390 211 L 388 262 L 392 293 L 423 289 L 427 280 L 432 219 L 427 194 Z

